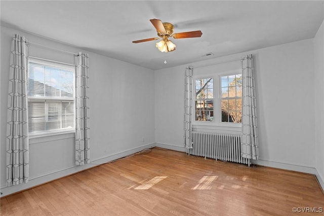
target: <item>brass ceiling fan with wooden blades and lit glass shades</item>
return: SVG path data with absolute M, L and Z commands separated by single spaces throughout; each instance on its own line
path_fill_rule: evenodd
M 187 31 L 187 32 L 180 32 L 180 33 L 173 33 L 173 24 L 168 22 L 162 22 L 159 19 L 150 19 L 153 26 L 156 28 L 157 35 L 159 38 L 148 38 L 138 41 L 133 41 L 133 43 L 142 43 L 147 41 L 154 41 L 158 39 L 162 39 L 161 41 L 156 43 L 156 47 L 161 52 L 171 52 L 176 49 L 176 45 L 169 40 L 169 38 L 174 39 L 182 39 L 182 38 L 199 38 L 201 37 L 200 30 L 197 31 Z

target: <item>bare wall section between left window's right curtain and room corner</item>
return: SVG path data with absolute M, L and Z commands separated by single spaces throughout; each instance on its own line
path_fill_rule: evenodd
M 92 161 L 154 143 L 153 71 L 94 53 L 90 60 Z

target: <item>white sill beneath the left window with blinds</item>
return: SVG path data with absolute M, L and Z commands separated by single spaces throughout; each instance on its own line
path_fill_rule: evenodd
M 60 139 L 74 138 L 74 131 L 63 131 L 55 133 L 46 133 L 46 134 L 34 134 L 29 136 L 29 144 L 55 141 Z

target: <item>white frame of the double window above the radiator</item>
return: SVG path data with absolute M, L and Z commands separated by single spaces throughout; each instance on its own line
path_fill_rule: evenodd
M 222 84 L 221 84 L 221 77 L 224 76 L 232 76 L 232 75 L 238 75 L 242 74 L 241 69 L 234 69 L 234 70 L 228 70 L 228 71 L 222 71 L 219 73 L 214 74 L 203 74 L 203 75 L 194 75 L 192 77 L 192 119 L 191 123 L 194 128 L 200 128 L 200 129 L 226 129 L 226 130 L 237 130 L 241 128 L 241 123 L 235 123 L 235 122 L 222 122 L 222 112 L 221 112 L 221 100 L 222 100 Z M 213 78 L 213 88 L 214 88 L 214 121 L 196 121 L 195 120 L 195 104 L 196 101 L 199 100 L 195 96 L 195 82 L 199 79 L 209 79 Z

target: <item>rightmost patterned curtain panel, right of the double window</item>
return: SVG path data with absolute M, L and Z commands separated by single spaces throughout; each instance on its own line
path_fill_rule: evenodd
M 257 111 L 252 55 L 242 60 L 242 139 L 241 154 L 248 159 L 259 159 Z

